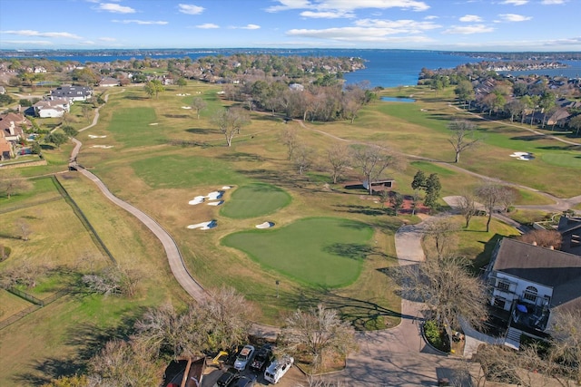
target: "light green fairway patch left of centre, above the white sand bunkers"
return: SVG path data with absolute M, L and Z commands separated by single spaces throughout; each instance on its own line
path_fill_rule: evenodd
M 133 161 L 131 166 L 153 189 L 185 189 L 210 184 L 220 188 L 247 181 L 232 163 L 212 158 L 163 155 Z M 192 198 L 205 194 L 207 192 L 192 192 Z

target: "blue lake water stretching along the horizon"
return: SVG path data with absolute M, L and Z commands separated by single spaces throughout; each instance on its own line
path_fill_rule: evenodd
M 90 55 L 75 56 L 43 56 L 43 58 L 55 61 L 74 61 L 79 63 L 87 62 L 114 62 L 117 60 L 143 59 L 148 56 L 152 59 L 169 59 L 189 57 L 192 60 L 203 56 L 216 54 L 230 55 L 232 53 L 272 53 L 278 55 L 302 55 L 302 56 L 347 56 L 359 57 L 366 61 L 366 68 L 354 73 L 345 73 L 344 78 L 348 83 L 369 82 L 371 87 L 398 87 L 411 86 L 418 83 L 419 73 L 422 68 L 436 70 L 440 68 L 448 69 L 463 63 L 478 63 L 481 59 L 458 53 L 446 53 L 439 51 L 422 50 L 352 50 L 352 49 L 221 49 L 216 51 L 199 51 L 192 49 L 181 50 L 179 53 L 144 53 L 134 55 L 101 55 L 91 53 Z M 581 74 L 581 61 L 563 61 L 569 65 L 566 69 L 547 69 L 540 71 L 540 74 L 566 75 L 576 77 Z M 519 72 L 512 72 L 517 74 Z M 530 72 L 521 72 L 530 73 Z

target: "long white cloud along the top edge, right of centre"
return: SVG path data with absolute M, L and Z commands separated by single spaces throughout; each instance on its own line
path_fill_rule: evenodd
M 426 11 L 429 5 L 417 0 L 277 0 L 280 5 L 272 5 L 267 12 L 287 11 L 290 9 L 310 9 L 314 11 L 351 12 L 363 8 L 403 8 L 412 11 Z

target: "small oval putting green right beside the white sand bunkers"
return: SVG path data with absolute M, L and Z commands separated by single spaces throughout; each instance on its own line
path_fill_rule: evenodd
M 271 184 L 249 184 L 236 189 L 221 208 L 228 218 L 256 218 L 268 215 L 291 203 L 291 195 Z

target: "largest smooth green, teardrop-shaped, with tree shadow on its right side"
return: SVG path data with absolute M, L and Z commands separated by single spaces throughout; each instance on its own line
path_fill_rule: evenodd
M 338 287 L 359 276 L 372 232 L 349 219 L 310 218 L 279 229 L 231 234 L 222 243 L 305 285 Z

